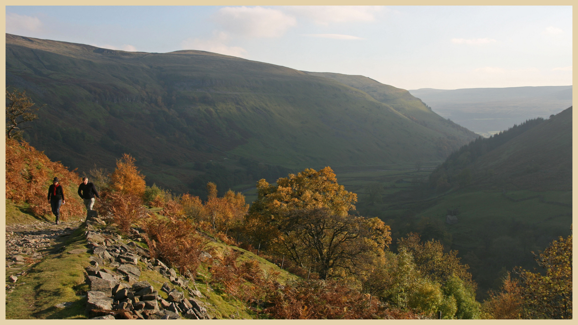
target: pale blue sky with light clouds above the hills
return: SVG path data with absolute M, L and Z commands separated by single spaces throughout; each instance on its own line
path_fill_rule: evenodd
M 211 51 L 407 90 L 572 84 L 571 6 L 6 6 L 6 32 Z

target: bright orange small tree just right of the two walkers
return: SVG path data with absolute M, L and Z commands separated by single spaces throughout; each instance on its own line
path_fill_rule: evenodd
M 143 197 L 144 176 L 136 169 L 135 161 L 135 158 L 127 153 L 116 161 L 116 169 L 110 175 L 112 190 Z

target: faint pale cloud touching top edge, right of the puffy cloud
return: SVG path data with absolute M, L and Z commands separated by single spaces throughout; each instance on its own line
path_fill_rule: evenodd
M 375 14 L 389 11 L 384 6 L 287 6 L 288 12 L 306 17 L 320 25 L 350 21 L 374 21 Z

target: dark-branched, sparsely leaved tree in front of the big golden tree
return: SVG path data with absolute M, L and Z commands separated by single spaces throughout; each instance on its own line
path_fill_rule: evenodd
M 383 221 L 339 215 L 328 208 L 291 210 L 277 227 L 281 235 L 272 250 L 299 265 L 310 265 L 322 280 L 368 269 L 391 243 L 390 227 Z M 332 272 L 335 269 L 341 272 Z

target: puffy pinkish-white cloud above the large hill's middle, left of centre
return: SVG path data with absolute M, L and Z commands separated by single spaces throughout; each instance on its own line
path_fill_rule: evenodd
M 297 24 L 295 17 L 260 6 L 221 8 L 213 18 L 225 31 L 249 38 L 280 37 Z

